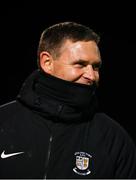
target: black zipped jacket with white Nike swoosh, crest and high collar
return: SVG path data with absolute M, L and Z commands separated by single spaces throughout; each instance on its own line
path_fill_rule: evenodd
M 135 145 L 94 92 L 34 72 L 0 108 L 0 178 L 136 178 Z

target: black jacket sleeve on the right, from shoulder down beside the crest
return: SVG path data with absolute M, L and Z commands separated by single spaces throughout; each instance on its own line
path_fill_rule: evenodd
M 104 113 L 96 114 L 94 126 L 116 169 L 115 177 L 136 177 L 136 146 L 124 127 Z

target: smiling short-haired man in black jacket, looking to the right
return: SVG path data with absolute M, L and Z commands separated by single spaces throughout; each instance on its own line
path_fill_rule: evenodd
M 46 29 L 38 70 L 0 109 L 0 178 L 136 178 L 136 149 L 98 112 L 99 36 L 64 22 Z

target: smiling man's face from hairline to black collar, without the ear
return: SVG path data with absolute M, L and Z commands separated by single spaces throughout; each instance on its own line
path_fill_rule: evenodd
M 94 41 L 67 40 L 60 56 L 53 60 L 51 75 L 63 80 L 91 85 L 99 81 L 100 52 Z

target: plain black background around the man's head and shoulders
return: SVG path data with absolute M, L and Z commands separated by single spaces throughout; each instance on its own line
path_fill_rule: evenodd
M 97 92 L 101 109 L 136 142 L 134 7 L 131 2 L 119 5 L 111 1 L 0 6 L 0 104 L 14 100 L 24 80 L 37 68 L 41 32 L 54 23 L 76 21 L 101 36 L 103 65 Z

